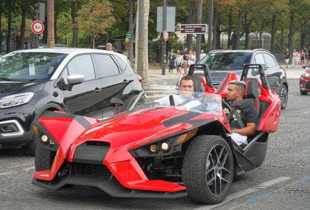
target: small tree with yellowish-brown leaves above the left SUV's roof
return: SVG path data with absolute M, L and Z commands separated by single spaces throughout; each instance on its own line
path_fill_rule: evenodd
M 115 22 L 112 11 L 112 4 L 108 0 L 90 0 L 77 12 L 77 28 L 89 33 L 93 48 L 99 34 L 104 34 L 105 29 Z

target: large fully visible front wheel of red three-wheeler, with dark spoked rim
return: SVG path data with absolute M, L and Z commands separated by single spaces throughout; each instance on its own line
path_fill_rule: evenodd
M 187 147 L 183 160 L 183 183 L 196 202 L 222 202 L 232 185 L 232 151 L 219 136 L 198 136 Z

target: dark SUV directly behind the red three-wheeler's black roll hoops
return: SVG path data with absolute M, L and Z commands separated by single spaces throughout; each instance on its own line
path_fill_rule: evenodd
M 288 103 L 289 83 L 286 72 L 267 50 L 215 50 L 208 53 L 198 63 L 208 65 L 215 88 L 220 87 L 228 72 L 235 72 L 241 76 L 244 64 L 264 64 L 270 88 L 280 96 L 281 108 L 284 109 Z M 203 71 L 195 71 L 196 75 L 200 73 L 203 75 Z M 253 73 L 251 76 L 259 77 L 259 74 Z M 176 89 L 178 89 L 179 81 Z

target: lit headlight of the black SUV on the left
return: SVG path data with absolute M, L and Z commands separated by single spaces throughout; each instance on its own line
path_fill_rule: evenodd
M 23 105 L 30 102 L 32 97 L 35 95 L 34 92 L 20 93 L 0 98 L 0 108 L 8 108 L 17 105 Z

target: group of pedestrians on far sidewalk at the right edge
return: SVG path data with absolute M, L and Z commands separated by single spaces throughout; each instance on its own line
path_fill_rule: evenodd
M 286 68 L 288 68 L 290 60 L 291 68 L 296 68 L 298 65 L 300 68 L 302 68 L 304 63 L 308 64 L 310 62 L 310 46 L 305 52 L 304 50 L 299 52 L 294 49 L 293 52 L 290 53 L 289 49 L 287 48 L 283 54 L 283 57 L 285 59 Z

